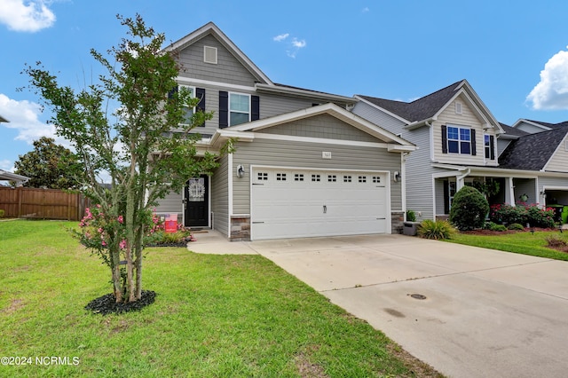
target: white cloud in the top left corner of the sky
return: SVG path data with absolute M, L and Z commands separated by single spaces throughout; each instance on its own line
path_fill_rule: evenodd
M 48 8 L 50 4 L 44 0 L 0 0 L 0 23 L 20 32 L 50 28 L 55 23 L 55 13 Z

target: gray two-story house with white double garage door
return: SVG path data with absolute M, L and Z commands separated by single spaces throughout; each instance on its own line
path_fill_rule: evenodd
M 166 50 L 185 66 L 179 85 L 214 112 L 194 130 L 199 149 L 237 142 L 211 177 L 188 177 L 158 213 L 230 240 L 400 231 L 400 172 L 415 146 L 352 114 L 355 98 L 272 83 L 213 23 Z

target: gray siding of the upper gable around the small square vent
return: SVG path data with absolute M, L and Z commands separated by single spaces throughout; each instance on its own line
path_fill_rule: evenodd
M 203 47 L 217 48 L 217 64 L 203 61 Z M 247 68 L 241 65 L 231 52 L 212 35 L 191 44 L 179 53 L 179 61 L 183 65 L 182 76 L 199 77 L 201 80 L 245 85 L 252 87 L 259 81 Z

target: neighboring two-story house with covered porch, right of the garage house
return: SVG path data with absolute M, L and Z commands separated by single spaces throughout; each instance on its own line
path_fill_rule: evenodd
M 465 80 L 412 102 L 355 96 L 353 113 L 418 146 L 406 157 L 406 209 L 418 220 L 445 218 L 463 185 L 487 193 L 493 203 L 540 200 L 539 172 L 508 166 L 498 156 L 522 138 L 497 122 Z M 525 197 L 522 197 L 525 199 Z

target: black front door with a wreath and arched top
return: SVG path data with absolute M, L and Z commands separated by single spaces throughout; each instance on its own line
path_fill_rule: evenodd
M 209 226 L 209 177 L 193 177 L 184 190 L 185 226 Z

